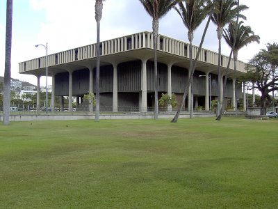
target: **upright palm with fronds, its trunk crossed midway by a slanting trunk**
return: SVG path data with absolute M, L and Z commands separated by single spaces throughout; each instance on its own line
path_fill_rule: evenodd
M 189 40 L 189 73 L 192 72 L 193 68 L 193 57 L 192 57 L 192 42 L 194 38 L 194 31 L 208 15 L 208 7 L 206 6 L 206 0 L 188 0 L 179 2 L 178 6 L 175 7 L 177 13 L 181 16 L 183 24 L 188 29 L 188 40 Z M 193 86 L 191 86 L 191 104 L 190 104 L 190 118 L 193 118 Z

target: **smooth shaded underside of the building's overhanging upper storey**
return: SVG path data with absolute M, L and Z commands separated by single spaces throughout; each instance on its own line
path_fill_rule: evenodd
M 154 61 L 154 49 L 150 48 L 140 48 L 140 49 L 131 49 L 124 52 L 117 52 L 115 54 L 101 55 L 100 57 L 100 66 L 104 65 L 117 65 L 119 63 L 124 63 L 128 61 L 144 60 Z M 157 50 L 157 61 L 158 63 L 164 63 L 166 65 L 177 65 L 181 68 L 189 68 L 189 59 L 185 56 L 179 56 L 177 54 L 171 54 Z M 194 60 L 193 60 L 194 61 Z M 48 76 L 54 76 L 60 72 L 74 72 L 76 70 L 81 70 L 88 68 L 88 66 L 95 68 L 97 63 L 97 58 L 93 57 L 90 59 L 81 59 L 78 61 L 72 61 L 70 63 L 63 63 L 58 65 L 51 65 L 48 67 Z M 206 63 L 203 61 L 197 61 L 195 70 L 201 72 L 210 72 L 215 75 L 218 75 L 218 65 L 211 63 Z M 222 75 L 226 74 L 227 68 L 220 67 Z M 46 75 L 46 68 L 38 68 L 34 70 L 28 70 L 25 72 L 19 72 L 27 75 L 35 75 L 37 77 Z M 243 75 L 244 72 L 239 70 L 228 70 L 229 75 Z

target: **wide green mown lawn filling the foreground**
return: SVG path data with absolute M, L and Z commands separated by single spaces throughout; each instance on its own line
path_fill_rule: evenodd
M 277 207 L 277 120 L 0 125 L 0 208 Z

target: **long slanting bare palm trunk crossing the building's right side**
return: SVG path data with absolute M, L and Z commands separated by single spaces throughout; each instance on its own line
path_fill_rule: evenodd
M 189 86 L 190 86 L 191 81 L 192 81 L 192 79 L 193 79 L 193 73 L 194 73 L 194 71 L 195 71 L 196 62 L 197 62 L 197 60 L 199 59 L 199 54 L 201 53 L 201 50 L 202 50 L 202 45 L 203 45 L 203 43 L 204 43 L 204 38 L 205 38 L 205 36 L 206 36 L 206 31 L 208 30 L 208 25 L 209 25 L 209 23 L 211 22 L 211 16 L 213 15 L 213 11 L 214 11 L 214 8 L 215 8 L 215 2 L 216 2 L 216 1 L 213 1 L 213 6 L 211 7 L 211 13 L 210 13 L 210 15 L 209 15 L 209 17 L 208 17 L 208 21 L 206 22 L 206 27 L 205 27 L 205 29 L 204 29 L 203 36 L 202 36 L 202 40 L 201 40 L 201 42 L 200 42 L 197 55 L 196 55 L 196 57 L 195 57 L 195 62 L 194 62 L 194 64 L 193 64 L 192 72 L 190 72 L 190 77 L 188 77 L 188 83 L 186 84 L 186 89 L 185 89 L 185 91 L 184 91 L 184 93 L 183 93 L 183 98 L 182 98 L 182 100 L 181 100 L 181 104 L 179 105 L 179 108 L 178 108 L 177 113 L 175 114 L 174 118 L 172 118 L 171 123 L 177 123 L 178 118 L 179 118 L 179 114 L 181 114 L 181 109 L 182 109 L 182 107 L 183 107 L 183 105 L 184 105 L 184 102 L 185 102 L 185 100 L 186 100 L 186 94 L 188 93 Z

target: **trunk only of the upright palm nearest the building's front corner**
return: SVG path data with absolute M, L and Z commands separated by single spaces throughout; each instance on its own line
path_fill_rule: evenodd
M 152 29 L 154 35 L 154 119 L 158 120 L 158 82 L 157 82 L 157 36 L 159 21 L 153 19 Z

